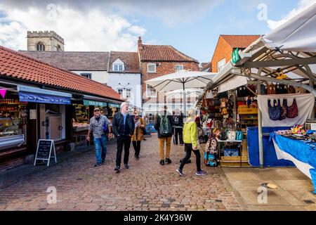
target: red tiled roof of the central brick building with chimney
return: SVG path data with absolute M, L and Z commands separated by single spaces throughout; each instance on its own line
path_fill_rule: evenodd
M 195 62 L 197 60 L 191 58 L 184 53 L 174 49 L 169 45 L 148 45 L 140 46 L 140 60 L 143 61 L 164 61 L 164 62 Z

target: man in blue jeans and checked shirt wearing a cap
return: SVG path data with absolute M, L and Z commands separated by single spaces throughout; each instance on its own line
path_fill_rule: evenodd
M 105 162 L 105 155 L 107 154 L 107 134 L 103 131 L 104 124 L 107 124 L 109 133 L 111 136 L 111 122 L 107 119 L 105 115 L 100 114 L 100 109 L 95 108 L 93 111 L 93 117 L 90 119 L 89 131 L 86 139 L 90 141 L 91 132 L 93 134 L 93 142 L 96 146 L 96 165 L 99 167 L 103 162 Z

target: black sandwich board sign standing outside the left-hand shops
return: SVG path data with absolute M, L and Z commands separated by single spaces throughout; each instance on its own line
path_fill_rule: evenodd
M 51 156 L 52 150 L 54 150 L 53 156 Z M 55 163 L 57 163 L 54 140 L 39 139 L 39 142 L 37 143 L 37 154 L 35 155 L 34 166 L 37 164 L 37 160 L 47 161 L 48 166 L 51 158 L 55 158 Z

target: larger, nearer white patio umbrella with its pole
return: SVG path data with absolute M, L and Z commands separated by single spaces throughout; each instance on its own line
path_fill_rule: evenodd
M 186 115 L 185 89 L 204 88 L 216 73 L 180 70 L 170 75 L 164 75 L 145 81 L 156 91 L 174 91 L 183 89 L 183 113 Z

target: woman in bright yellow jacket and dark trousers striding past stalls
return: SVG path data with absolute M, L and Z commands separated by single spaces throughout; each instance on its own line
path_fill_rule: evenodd
M 199 153 L 199 145 L 197 143 L 197 124 L 195 118 L 197 113 L 195 109 L 190 110 L 189 117 L 187 118 L 183 127 L 183 142 L 185 143 L 185 158 L 181 161 L 179 169 L 176 170 L 180 176 L 184 176 L 182 170 L 187 160 L 190 159 L 191 153 L 195 153 L 197 158 L 197 176 L 204 176 L 206 172 L 201 169 L 201 153 Z

